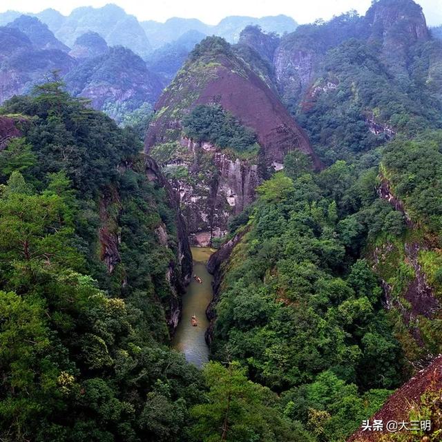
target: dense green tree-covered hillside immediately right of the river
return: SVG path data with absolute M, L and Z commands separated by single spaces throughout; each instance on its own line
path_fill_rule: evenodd
M 288 164 L 302 161 L 296 156 Z M 290 170 L 294 180 L 280 172 L 258 188 L 246 233 L 224 265 L 212 352 L 282 392 L 285 415 L 314 440 L 341 441 L 401 379 L 381 288 L 357 259 L 375 235 L 367 216 L 380 201 L 367 173 L 345 162 L 320 175 Z M 373 218 L 394 224 L 391 206 L 382 210 Z

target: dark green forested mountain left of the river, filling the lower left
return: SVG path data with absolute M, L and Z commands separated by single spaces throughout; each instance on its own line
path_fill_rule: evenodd
M 164 418 L 187 414 L 204 392 L 198 369 L 168 348 L 192 269 L 173 192 L 130 131 L 57 83 L 12 99 L 2 113 L 0 336 L 18 339 L 12 352 L 2 349 L 2 401 L 24 407 L 19 425 L 17 414 L 3 414 L 0 434 L 182 441 L 189 421 L 164 436 Z M 29 259 L 16 248 L 22 235 Z M 121 358 L 131 369 L 119 371 Z M 160 383 L 171 385 L 164 396 Z M 161 403 L 157 419 L 146 416 L 150 400 Z M 112 429 L 103 408 L 109 401 L 124 421 Z

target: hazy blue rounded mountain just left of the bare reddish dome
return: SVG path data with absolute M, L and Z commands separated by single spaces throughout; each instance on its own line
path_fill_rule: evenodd
M 93 108 L 117 122 L 143 105 L 153 104 L 162 90 L 160 79 L 148 70 L 143 59 L 122 46 L 80 61 L 64 80 L 75 97 L 90 99 Z

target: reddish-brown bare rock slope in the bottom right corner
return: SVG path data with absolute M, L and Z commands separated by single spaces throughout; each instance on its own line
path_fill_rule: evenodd
M 413 378 L 399 388 L 387 402 L 383 405 L 372 418 L 383 421 L 386 425 L 389 421 L 396 422 L 410 422 L 410 412 L 419 405 L 421 402 L 421 396 L 426 392 L 437 392 L 442 389 L 442 356 L 437 357 L 434 361 L 421 372 L 417 373 Z M 434 423 L 433 423 L 434 424 Z M 412 434 L 411 431 L 407 431 L 407 434 Z M 376 442 L 388 439 L 383 439 L 389 433 L 384 430 L 378 431 L 363 431 L 358 430 L 352 436 L 347 439 L 347 442 Z M 418 438 L 420 440 L 420 438 Z M 418 440 L 416 439 L 416 440 Z M 409 439 L 412 440 L 412 439 Z M 413 439 L 415 440 L 415 439 Z M 422 439 L 424 440 L 424 439 Z M 430 440 L 430 439 L 428 439 Z M 434 439 L 436 440 L 436 439 Z

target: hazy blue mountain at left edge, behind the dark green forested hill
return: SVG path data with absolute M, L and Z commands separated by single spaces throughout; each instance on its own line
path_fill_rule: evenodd
M 43 41 L 46 44 L 55 40 Z M 63 76 L 74 66 L 75 59 L 65 50 L 40 49 L 18 28 L 0 28 L 0 102 L 13 95 L 29 93 L 54 70 Z

